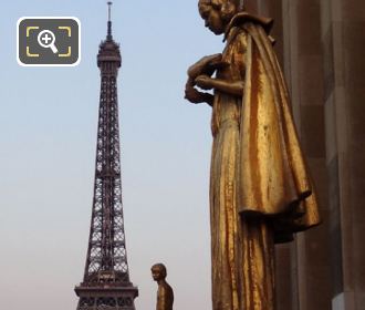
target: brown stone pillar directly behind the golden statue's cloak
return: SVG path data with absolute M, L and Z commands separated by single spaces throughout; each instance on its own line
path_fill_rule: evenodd
M 284 68 L 295 123 L 316 185 L 323 224 L 299 234 L 292 249 L 298 279 L 292 309 L 330 310 L 330 228 L 324 134 L 321 0 L 283 0 Z M 295 297 L 296 293 L 296 297 Z M 278 308 L 280 309 L 280 308 Z

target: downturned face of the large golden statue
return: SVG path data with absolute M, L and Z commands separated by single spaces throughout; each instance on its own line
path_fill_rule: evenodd
M 216 1 L 200 0 L 199 13 L 206 21 L 206 27 L 209 28 L 215 34 L 225 32 L 225 22 L 221 18 L 220 6 Z

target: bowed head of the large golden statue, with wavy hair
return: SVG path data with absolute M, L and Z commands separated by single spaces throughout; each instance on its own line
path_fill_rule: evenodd
M 199 0 L 199 13 L 215 34 L 222 34 L 239 11 L 240 0 Z

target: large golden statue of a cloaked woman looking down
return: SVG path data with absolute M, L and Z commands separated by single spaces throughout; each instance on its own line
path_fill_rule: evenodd
M 199 12 L 227 42 L 221 54 L 189 68 L 186 85 L 187 100 L 212 106 L 212 306 L 273 310 L 274 244 L 320 218 L 269 35 L 272 20 L 249 14 L 239 0 L 199 0 Z

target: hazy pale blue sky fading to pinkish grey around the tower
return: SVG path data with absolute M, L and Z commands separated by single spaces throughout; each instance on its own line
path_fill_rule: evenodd
M 105 2 L 1 4 L 1 309 L 76 308 L 92 211 Z M 158 261 L 168 268 L 175 309 L 211 308 L 210 107 L 185 101 L 184 84 L 187 68 L 222 43 L 205 29 L 197 2 L 114 1 L 125 229 L 139 310 L 155 308 L 149 268 Z M 80 65 L 19 66 L 15 27 L 27 16 L 77 17 Z

